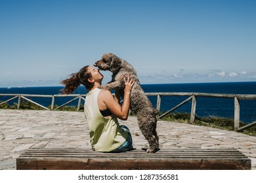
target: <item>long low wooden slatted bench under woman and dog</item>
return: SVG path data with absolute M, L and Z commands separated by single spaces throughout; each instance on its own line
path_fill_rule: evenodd
M 34 148 L 16 159 L 16 169 L 249 170 L 251 159 L 234 149 L 174 149 L 160 150 L 156 154 L 133 150 L 114 154 L 93 150 Z

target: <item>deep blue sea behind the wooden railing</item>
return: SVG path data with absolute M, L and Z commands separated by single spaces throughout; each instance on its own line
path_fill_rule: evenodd
M 209 82 L 209 83 L 188 83 L 188 84 L 142 84 L 144 92 L 198 92 L 198 93 L 230 93 L 230 94 L 256 94 L 256 82 Z M 0 88 L 0 93 L 13 94 L 39 94 L 39 95 L 54 95 L 59 94 L 63 86 L 51 87 L 22 87 L 22 88 Z M 85 94 L 87 91 L 83 86 L 80 86 L 75 91 L 76 94 Z M 1 96 L 0 101 L 6 101 L 11 97 Z M 156 107 L 157 97 L 148 96 L 154 107 Z M 163 96 L 161 97 L 161 111 L 168 111 L 171 108 L 179 105 L 188 97 L 181 96 Z M 48 107 L 51 105 L 51 98 L 30 97 L 33 101 Z M 72 98 L 70 98 L 72 99 Z M 56 105 L 62 105 L 70 100 L 66 97 L 56 97 Z M 14 99 L 9 102 L 13 105 L 17 102 Z M 77 101 L 69 105 L 77 105 Z M 191 111 L 192 101 L 177 108 L 174 112 Z M 234 118 L 234 99 L 198 97 L 196 103 L 196 115 L 203 116 L 218 116 L 223 118 Z M 240 120 L 247 124 L 256 121 L 256 100 L 242 99 L 240 100 Z

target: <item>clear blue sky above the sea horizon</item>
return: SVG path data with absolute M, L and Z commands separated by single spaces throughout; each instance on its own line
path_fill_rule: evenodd
M 106 52 L 142 84 L 256 80 L 256 1 L 0 0 L 0 32 L 0 88 L 59 86 Z

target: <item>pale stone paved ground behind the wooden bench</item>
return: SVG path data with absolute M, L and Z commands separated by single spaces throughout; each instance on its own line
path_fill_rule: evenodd
M 147 141 L 135 117 L 127 121 L 137 149 Z M 251 158 L 256 169 L 256 137 L 211 127 L 175 122 L 158 122 L 160 148 L 236 148 Z M 0 169 L 16 169 L 16 158 L 28 148 L 91 149 L 83 112 L 47 110 L 0 110 Z

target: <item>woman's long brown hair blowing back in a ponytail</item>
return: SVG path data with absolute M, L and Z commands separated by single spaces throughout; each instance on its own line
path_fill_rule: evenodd
M 62 94 L 70 94 L 74 92 L 80 84 L 83 84 L 87 90 L 90 90 L 93 87 L 93 84 L 88 81 L 88 79 L 91 78 L 91 73 L 88 71 L 87 67 L 89 67 L 89 65 L 80 69 L 78 73 L 71 74 L 70 78 L 60 82 L 60 84 L 65 85 Z

